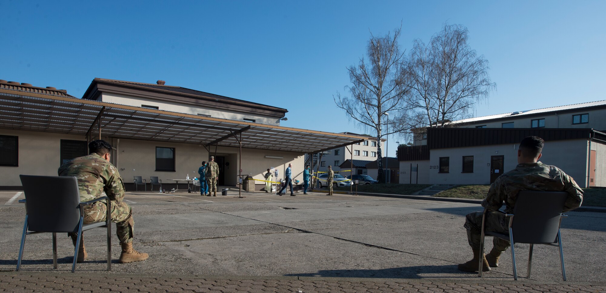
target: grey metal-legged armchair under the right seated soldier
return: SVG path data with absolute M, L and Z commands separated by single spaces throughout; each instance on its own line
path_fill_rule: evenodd
M 564 202 L 568 193 L 564 191 L 520 191 L 516 198 L 516 205 L 513 208 L 513 214 L 505 214 L 509 218 L 509 234 L 484 231 L 484 221 L 487 212 L 491 209 L 484 209 L 482 217 L 482 235 L 480 240 L 480 254 L 484 253 L 484 236 L 490 235 L 501 239 L 509 240 L 511 243 L 511 263 L 513 264 L 513 278 L 518 280 L 516 270 L 516 254 L 514 252 L 514 243 L 529 243 L 528 252 L 528 275 L 532 265 L 532 252 L 535 244 L 545 244 L 558 246 L 560 249 L 560 262 L 562 264 L 562 278 L 566 280 L 566 270 L 564 269 L 564 252 L 562 251 L 562 238 L 560 234 L 560 225 Z M 482 277 L 482 258 L 479 262 L 478 274 Z

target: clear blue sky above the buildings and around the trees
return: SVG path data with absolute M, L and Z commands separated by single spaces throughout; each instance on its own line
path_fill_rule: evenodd
M 497 84 L 485 116 L 606 99 L 604 12 L 606 1 L 0 0 L 0 79 L 76 97 L 95 77 L 162 79 L 287 108 L 287 127 L 364 133 L 333 94 L 347 94 L 370 31 L 402 24 L 408 50 L 444 22 L 465 25 Z

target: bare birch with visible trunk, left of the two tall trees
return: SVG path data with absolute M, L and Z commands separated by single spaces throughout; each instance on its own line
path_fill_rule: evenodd
M 361 58 L 358 65 L 347 68 L 351 85 L 345 90 L 351 96 L 339 93 L 333 96 L 335 104 L 347 113 L 348 119 L 354 119 L 366 130 L 376 133 L 379 182 L 385 182 L 381 138 L 405 131 L 407 125 L 404 123 L 407 121 L 404 99 L 408 87 L 402 66 L 404 52 L 398 45 L 400 30 L 382 37 L 371 35 L 366 52 L 368 59 Z M 384 127 L 388 127 L 388 133 L 383 131 Z

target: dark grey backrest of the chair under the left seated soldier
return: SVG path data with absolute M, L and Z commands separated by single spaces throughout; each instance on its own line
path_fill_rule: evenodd
M 29 231 L 75 232 L 80 220 L 80 193 L 74 176 L 19 175 L 25 193 Z

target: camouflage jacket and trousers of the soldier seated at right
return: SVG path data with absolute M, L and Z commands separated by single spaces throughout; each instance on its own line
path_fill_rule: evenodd
M 568 199 L 564 203 L 564 212 L 581 206 L 583 191 L 574 179 L 556 166 L 545 165 L 541 162 L 521 163 L 514 170 L 499 176 L 490 185 L 482 206 L 489 209 L 499 209 L 505 202 L 505 213 L 511 214 L 516 203 L 516 196 L 522 190 L 533 191 L 566 191 Z M 471 212 L 465 217 L 464 227 L 467 229 L 467 239 L 473 249 L 480 248 L 482 229 L 482 212 Z M 485 223 L 486 231 L 509 234 L 508 220 L 500 213 L 490 212 Z M 505 251 L 510 245 L 507 240 L 494 237 L 494 249 Z

